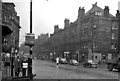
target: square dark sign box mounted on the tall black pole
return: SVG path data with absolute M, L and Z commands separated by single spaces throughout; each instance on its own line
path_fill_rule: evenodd
M 25 45 L 34 46 L 35 35 L 33 33 L 27 33 L 25 36 Z

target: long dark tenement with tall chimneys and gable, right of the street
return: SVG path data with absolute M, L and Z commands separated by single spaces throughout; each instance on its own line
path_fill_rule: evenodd
M 102 62 L 117 56 L 118 19 L 104 9 L 92 5 L 85 13 L 79 7 L 78 17 L 74 22 L 64 20 L 64 29 L 54 26 L 54 33 L 49 38 L 49 55 L 83 62 L 93 59 Z

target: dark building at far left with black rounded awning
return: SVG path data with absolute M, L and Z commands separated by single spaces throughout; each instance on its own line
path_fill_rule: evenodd
M 19 49 L 20 18 L 14 3 L 0 2 L 0 6 L 0 53 L 15 53 Z

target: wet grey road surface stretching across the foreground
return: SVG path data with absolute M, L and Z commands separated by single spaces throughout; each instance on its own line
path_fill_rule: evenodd
M 44 60 L 33 60 L 33 73 L 35 79 L 118 79 L 117 71 L 110 72 L 105 67 L 83 68 L 83 66 L 72 66 L 56 64 Z

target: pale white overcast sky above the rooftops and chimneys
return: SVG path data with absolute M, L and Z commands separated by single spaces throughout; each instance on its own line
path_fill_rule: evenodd
M 25 33 L 30 32 L 30 0 L 2 0 L 13 2 L 18 16 L 20 16 L 20 44 L 25 41 Z M 85 12 L 92 8 L 92 4 L 104 9 L 109 6 L 110 13 L 115 16 L 120 0 L 32 0 L 33 2 L 33 33 L 37 37 L 42 33 L 53 33 L 54 25 L 64 28 L 64 19 L 74 22 L 78 16 L 79 7 Z

